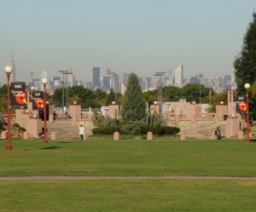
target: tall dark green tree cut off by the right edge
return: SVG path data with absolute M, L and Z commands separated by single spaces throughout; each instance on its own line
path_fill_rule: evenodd
M 241 52 L 234 60 L 234 68 L 236 75 L 238 95 L 244 95 L 245 83 L 253 83 L 256 80 L 256 11 L 253 11 L 253 20 L 247 26 L 247 32 L 243 37 L 243 45 Z M 250 116 L 253 120 L 256 119 L 256 100 L 250 98 L 249 104 Z

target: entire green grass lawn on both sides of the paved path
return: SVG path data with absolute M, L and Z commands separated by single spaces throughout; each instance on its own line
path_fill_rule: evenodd
M 244 140 L 0 140 L 0 176 L 256 176 Z M 2 211 L 256 211 L 256 180 L 0 181 Z

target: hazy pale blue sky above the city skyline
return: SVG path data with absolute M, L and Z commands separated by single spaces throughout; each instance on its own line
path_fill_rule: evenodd
M 255 0 L 0 0 L 0 83 L 11 50 L 17 80 L 73 68 L 116 72 L 174 71 L 184 77 L 231 73 Z

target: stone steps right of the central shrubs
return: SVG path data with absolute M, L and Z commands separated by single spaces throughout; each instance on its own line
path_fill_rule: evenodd
M 226 123 L 214 121 L 179 122 L 179 128 L 186 133 L 186 137 L 198 140 L 211 139 L 211 133 L 220 126 L 221 135 L 225 136 Z

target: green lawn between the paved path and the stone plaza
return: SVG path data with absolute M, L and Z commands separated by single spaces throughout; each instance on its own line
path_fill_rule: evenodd
M 0 141 L 0 176 L 256 176 L 256 144 L 244 140 Z

